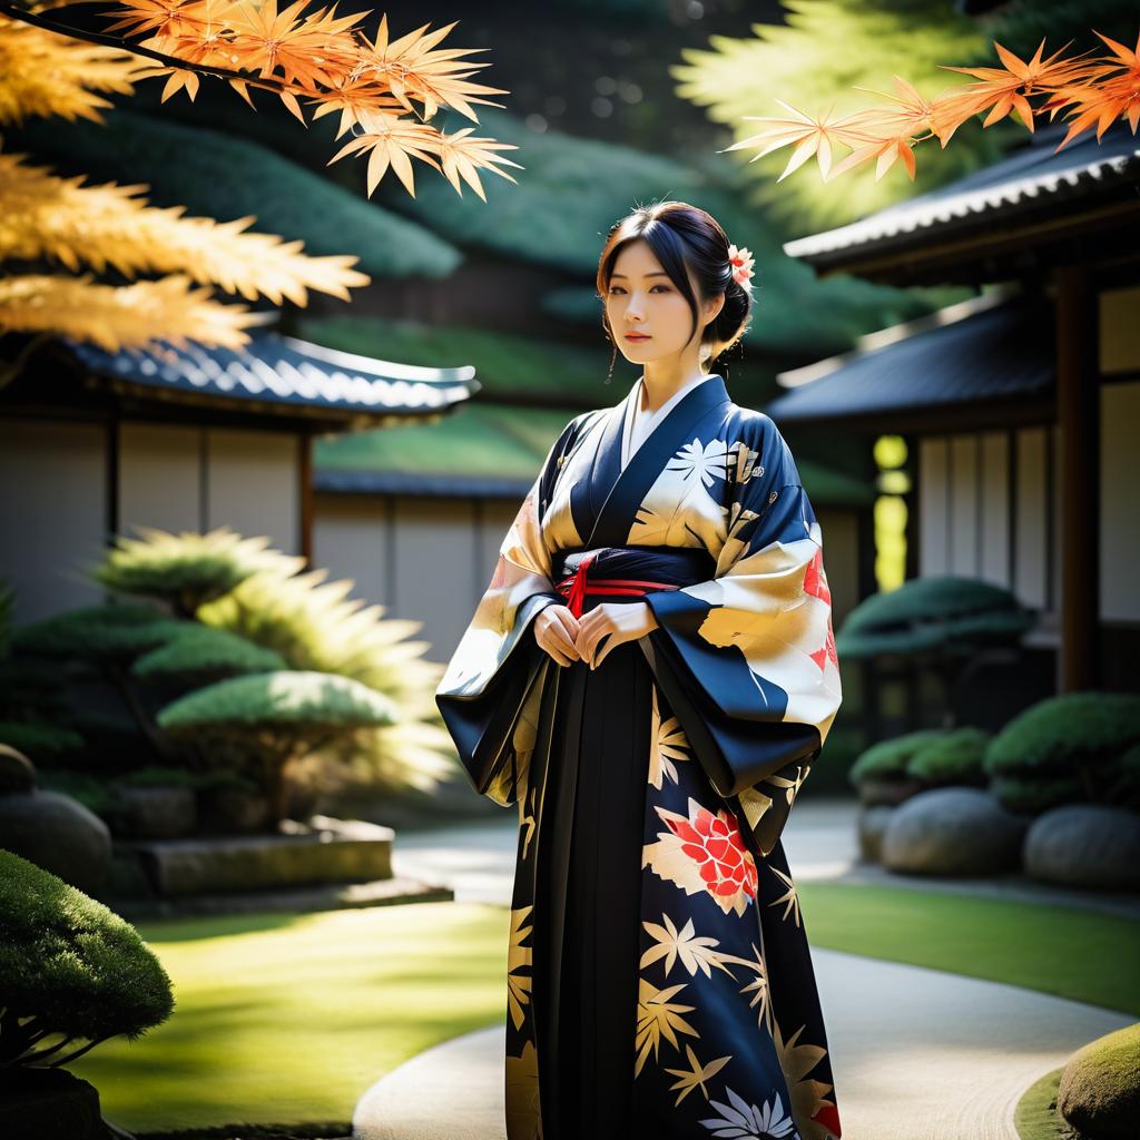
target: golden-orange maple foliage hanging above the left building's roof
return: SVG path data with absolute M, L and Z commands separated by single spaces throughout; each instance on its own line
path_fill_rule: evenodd
M 295 0 L 278 10 L 277 0 L 124 0 L 108 14 L 117 21 L 108 33 L 139 36 L 136 55 L 88 42 L 79 30 L 68 36 L 39 26 L 50 23 L 44 13 L 57 0 L 32 3 L 23 17 L 0 15 L 0 124 L 48 115 L 101 123 L 100 111 L 112 103 L 99 92 L 131 95 L 139 80 L 165 76 L 163 101 L 179 90 L 193 99 L 199 75 L 213 74 L 251 106 L 249 88 L 272 91 L 302 123 L 302 98 L 316 106 L 316 116 L 339 111 L 337 137 L 351 128 L 363 133 L 332 162 L 370 152 L 369 195 L 389 166 L 414 194 L 413 157 L 441 171 L 457 193 L 462 179 L 486 197 L 479 170 L 514 181 L 499 166 L 518 164 L 495 152 L 516 148 L 470 137 L 473 128 L 445 135 L 425 121 L 449 105 L 478 122 L 471 105 L 499 92 L 467 81 L 487 66 L 462 58 L 471 49 L 437 50 L 454 23 L 430 33 L 425 24 L 390 40 L 383 17 L 369 41 L 359 31 L 365 14 L 307 11 L 311 3 Z M 422 104 L 423 121 L 414 101 Z M 172 276 L 123 287 L 90 274 L 0 278 L 0 334 L 62 333 L 111 351 L 155 340 L 241 348 L 249 341 L 242 329 L 262 318 L 244 306 L 218 304 L 192 283 L 298 306 L 308 303 L 310 288 L 349 300 L 349 288 L 368 284 L 351 268 L 358 258 L 314 258 L 302 253 L 302 242 L 245 233 L 253 215 L 226 222 L 184 217 L 185 206 L 158 209 L 138 197 L 145 186 L 83 186 L 82 176 L 62 178 L 22 157 L 0 154 L 0 260 Z

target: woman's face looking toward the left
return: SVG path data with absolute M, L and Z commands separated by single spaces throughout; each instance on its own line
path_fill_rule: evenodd
M 693 295 L 700 300 L 697 282 L 692 272 L 687 269 L 686 272 Z M 613 263 L 605 312 L 622 356 L 633 364 L 644 365 L 679 356 L 685 349 L 695 360 L 700 334 L 723 303 L 723 295 L 706 302 L 690 342 L 693 315 L 689 304 L 661 268 L 649 243 L 638 239 L 622 246 Z M 642 337 L 632 337 L 634 333 Z

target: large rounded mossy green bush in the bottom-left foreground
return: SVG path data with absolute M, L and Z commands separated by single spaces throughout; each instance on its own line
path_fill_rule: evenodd
M 135 927 L 0 850 L 0 1067 L 55 1067 L 108 1037 L 135 1041 L 173 1007 L 170 978 Z

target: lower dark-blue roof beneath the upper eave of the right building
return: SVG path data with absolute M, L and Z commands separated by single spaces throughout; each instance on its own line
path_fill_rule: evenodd
M 1056 382 L 1048 301 L 1002 294 L 951 306 L 870 337 L 879 343 L 782 373 L 776 423 L 873 416 L 1044 393 Z M 891 339 L 894 337 L 894 339 Z

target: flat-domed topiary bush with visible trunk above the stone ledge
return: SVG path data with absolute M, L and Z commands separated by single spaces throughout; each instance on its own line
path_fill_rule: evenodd
M 383 693 L 349 677 L 278 671 L 221 681 L 169 705 L 163 731 L 190 739 L 204 764 L 250 773 L 270 805 L 270 826 L 286 815 L 288 766 L 343 734 L 394 724 Z

